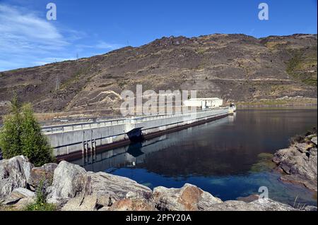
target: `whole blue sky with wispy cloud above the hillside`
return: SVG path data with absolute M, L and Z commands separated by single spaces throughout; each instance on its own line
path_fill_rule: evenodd
M 49 2 L 57 20 L 46 18 Z M 261 2 L 269 20 L 258 19 Z M 0 0 L 0 71 L 213 33 L 317 33 L 317 0 Z

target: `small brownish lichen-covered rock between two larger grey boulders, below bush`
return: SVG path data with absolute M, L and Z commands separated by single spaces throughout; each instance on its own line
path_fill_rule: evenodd
M 37 188 L 40 182 L 44 182 L 47 186 L 53 180 L 54 170 L 57 169 L 57 164 L 49 163 L 40 167 L 33 167 L 31 170 L 28 184 L 33 188 Z

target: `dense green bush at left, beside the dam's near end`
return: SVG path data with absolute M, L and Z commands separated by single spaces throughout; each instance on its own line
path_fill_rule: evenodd
M 0 132 L 0 148 L 4 159 L 24 155 L 35 166 L 53 162 L 52 148 L 47 137 L 41 133 L 30 104 L 23 107 L 13 97 L 11 113 L 4 118 L 4 127 Z

